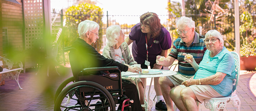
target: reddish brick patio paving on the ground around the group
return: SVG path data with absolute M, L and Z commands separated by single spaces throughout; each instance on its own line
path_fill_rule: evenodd
M 58 68 L 61 76 L 57 74 L 38 74 L 28 71 L 21 73 L 19 77 L 19 87 L 15 80 L 5 79 L 5 85 L 0 86 L 0 111 L 53 111 L 54 94 L 60 83 L 72 76 L 70 68 Z M 241 71 L 237 87 L 237 95 L 241 100 L 240 111 L 256 111 L 256 72 Z M 150 81 L 148 81 L 150 82 Z M 152 88 L 154 88 L 152 86 Z M 154 99 L 155 92 L 152 89 L 151 100 Z M 155 110 L 153 106 L 152 111 Z M 200 105 L 200 111 L 209 111 Z M 236 111 L 231 103 L 227 103 L 224 111 Z

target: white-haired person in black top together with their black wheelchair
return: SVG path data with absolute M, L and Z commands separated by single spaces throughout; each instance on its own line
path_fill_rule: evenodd
M 136 86 L 121 79 L 121 71 L 139 73 L 141 68 L 128 67 L 99 54 L 90 45 L 99 38 L 98 30 L 94 21 L 79 23 L 80 38 L 69 47 L 73 77 L 57 89 L 54 110 L 116 111 L 119 104 L 120 111 L 142 111 Z

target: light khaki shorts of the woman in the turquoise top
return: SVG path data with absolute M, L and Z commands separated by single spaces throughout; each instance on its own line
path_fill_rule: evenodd
M 182 88 L 186 88 L 184 85 L 180 85 Z M 223 97 L 217 91 L 215 91 L 210 85 L 192 85 L 188 86 L 196 95 L 197 101 L 204 102 L 205 99 L 213 97 Z

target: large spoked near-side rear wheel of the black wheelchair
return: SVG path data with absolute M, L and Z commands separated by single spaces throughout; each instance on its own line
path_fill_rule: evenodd
M 61 91 L 54 111 L 115 111 L 110 92 L 92 81 L 75 82 Z

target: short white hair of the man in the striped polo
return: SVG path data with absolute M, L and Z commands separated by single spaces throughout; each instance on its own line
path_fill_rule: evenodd
M 176 20 L 176 25 L 178 29 L 184 29 L 186 26 L 195 29 L 195 21 L 193 21 L 191 17 L 181 16 Z

